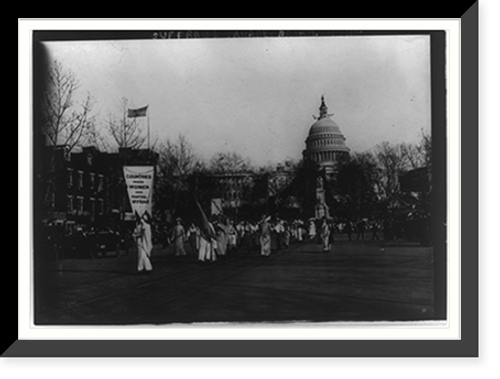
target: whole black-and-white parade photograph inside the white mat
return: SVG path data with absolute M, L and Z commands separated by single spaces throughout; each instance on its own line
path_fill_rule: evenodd
M 34 31 L 34 326 L 446 320 L 444 38 Z

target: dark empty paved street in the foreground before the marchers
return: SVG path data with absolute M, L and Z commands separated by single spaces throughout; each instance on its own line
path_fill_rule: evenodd
M 126 256 L 42 262 L 38 325 L 194 322 L 407 321 L 433 318 L 432 248 L 336 236 L 261 257 L 233 251 L 215 263 L 155 249 L 150 274 Z

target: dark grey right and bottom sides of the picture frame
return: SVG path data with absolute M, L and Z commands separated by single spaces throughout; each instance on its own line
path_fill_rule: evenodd
M 479 3 L 460 18 L 460 339 L 455 340 L 38 340 L 17 339 L 10 357 L 478 357 Z M 444 116 L 443 116 L 444 117 Z M 444 140 L 438 143 L 445 144 Z M 444 153 L 443 153 L 444 154 Z M 443 156 L 444 158 L 444 156 Z M 443 159 L 444 162 L 444 159 Z M 445 188 L 440 188 L 445 191 Z M 462 201 L 464 199 L 464 201 Z M 445 209 L 441 210 L 446 212 Z M 463 213 L 462 213 L 463 212 Z M 462 217 L 462 215 L 464 217 Z M 443 214 L 444 216 L 444 214 Z M 445 278 L 438 277 L 445 282 Z M 445 292 L 445 288 L 439 287 Z M 443 292 L 443 293 L 444 293 Z M 439 296 L 439 294 L 437 294 Z M 444 304 L 444 303 L 443 303 Z M 443 315 L 446 309 L 442 310 Z M 5 328 L 5 326 L 4 326 Z M 4 337 L 5 338 L 5 337 Z M 6 342 L 5 340 L 2 342 Z

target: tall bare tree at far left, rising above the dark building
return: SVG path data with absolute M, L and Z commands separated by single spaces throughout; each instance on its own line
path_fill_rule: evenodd
M 54 61 L 47 73 L 47 90 L 43 95 L 42 129 L 51 146 L 65 145 L 69 151 L 88 138 L 95 125 L 94 100 L 90 94 L 77 103 L 79 83 L 71 70 Z

